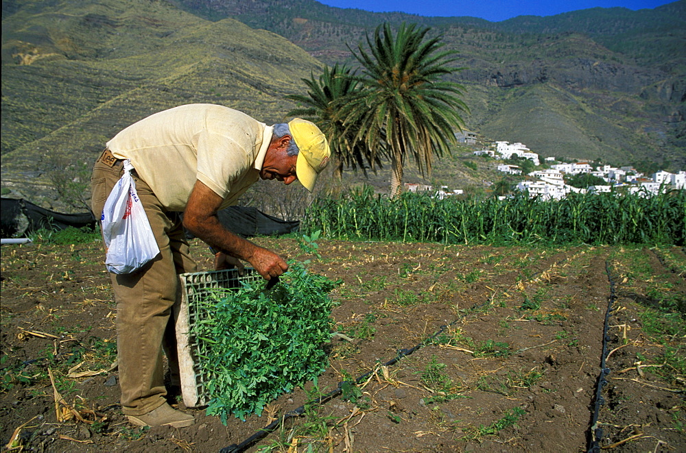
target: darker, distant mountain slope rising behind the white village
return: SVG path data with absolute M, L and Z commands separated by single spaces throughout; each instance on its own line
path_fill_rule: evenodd
M 532 149 L 544 155 L 686 166 L 686 0 L 653 10 L 593 8 L 500 23 L 342 10 L 314 0 L 172 1 L 209 19 L 233 17 L 270 29 L 327 64 L 354 62 L 348 46 L 355 48 L 382 21 L 434 27 L 446 47 L 460 52 L 466 70 L 456 80 L 466 85 L 469 105 L 488 106 L 472 108 L 466 118 L 486 138 L 535 144 Z M 584 103 L 583 109 L 558 103 L 557 110 L 541 110 L 573 123 L 570 131 L 576 132 L 564 140 L 557 129 L 530 127 L 513 106 L 497 108 L 499 99 L 514 95 L 509 90 L 536 96 L 541 84 L 547 93 Z

